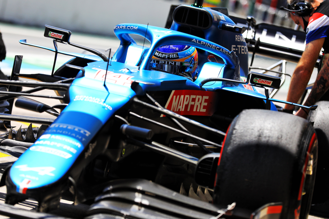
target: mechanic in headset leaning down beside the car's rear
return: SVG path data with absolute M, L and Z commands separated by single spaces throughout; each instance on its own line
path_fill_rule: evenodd
M 329 100 L 329 1 L 327 0 L 287 0 L 291 19 L 306 32 L 306 47 L 291 77 L 287 101 L 298 102 L 310 80 L 321 48 L 324 49 L 322 65 L 314 86 L 304 105 L 314 105 L 318 100 Z M 328 97 L 326 97 L 328 96 Z M 322 98 L 321 98 L 322 97 Z M 321 99 L 320 99 L 321 98 Z M 292 113 L 294 106 L 286 104 L 284 112 Z M 299 109 L 297 116 L 307 118 L 309 110 Z

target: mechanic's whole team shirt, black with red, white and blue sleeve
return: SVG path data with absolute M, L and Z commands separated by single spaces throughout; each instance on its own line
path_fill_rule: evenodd
M 309 19 L 306 29 L 306 43 L 326 37 L 323 49 L 329 51 L 329 1 L 324 0 Z

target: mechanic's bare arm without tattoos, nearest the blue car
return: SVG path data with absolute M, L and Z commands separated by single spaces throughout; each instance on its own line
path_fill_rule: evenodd
M 316 60 L 319 57 L 321 48 L 323 46 L 324 37 L 313 40 L 306 44 L 305 51 L 300 58 L 289 86 L 287 101 L 296 103 L 304 93 L 306 86 L 311 78 Z M 286 104 L 285 109 L 293 110 L 294 106 Z

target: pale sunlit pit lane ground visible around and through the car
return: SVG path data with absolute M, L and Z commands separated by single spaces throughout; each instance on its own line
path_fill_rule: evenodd
M 54 53 L 38 48 L 31 48 L 26 45 L 22 45 L 18 42 L 20 39 L 27 39 L 28 43 L 33 43 L 33 44 L 53 48 L 52 40 L 43 36 L 44 33 L 43 28 L 33 28 L 33 27 L 0 23 L 0 31 L 2 33 L 3 40 L 5 42 L 6 50 L 7 50 L 6 59 L 0 62 L 0 69 L 6 75 L 11 74 L 13 67 L 13 59 L 15 55 L 23 55 L 23 63 L 20 72 L 21 74 L 36 74 L 36 73 L 51 74 L 51 69 L 54 60 Z M 119 41 L 115 38 L 89 35 L 83 33 L 72 33 L 70 41 L 72 43 L 83 45 L 93 49 L 106 50 L 108 48 L 112 48 L 112 54 L 114 54 L 114 51 L 116 51 L 116 49 L 119 46 Z M 78 52 L 78 53 L 82 52 L 82 50 L 72 46 L 68 46 L 68 45 L 58 45 L 58 46 L 59 46 L 59 50 L 68 51 L 68 52 Z M 69 59 L 70 57 L 59 55 L 56 68 L 59 67 L 61 63 Z M 249 55 L 249 63 L 250 63 L 250 59 L 251 59 L 251 55 Z M 253 66 L 265 68 L 276 63 L 277 61 L 279 60 L 272 59 L 270 57 L 256 55 Z M 294 67 L 295 67 L 295 63 L 288 63 L 287 73 L 292 74 Z M 311 77 L 311 81 L 314 81 L 315 78 L 316 78 L 316 74 L 313 74 Z M 282 87 L 283 89 L 281 89 L 277 93 L 275 98 L 283 99 L 283 100 L 286 99 L 289 82 L 290 82 L 290 78 L 288 77 L 286 84 Z M 46 91 L 46 92 L 47 93 L 45 93 L 45 91 L 42 91 L 42 94 L 54 95 L 53 91 Z M 50 106 L 58 103 L 58 100 L 54 100 L 54 99 L 38 98 L 38 100 Z M 13 108 L 13 114 L 54 118 L 53 116 L 47 113 L 40 114 L 28 110 L 19 109 L 16 107 Z M 20 125 L 22 125 L 22 127 L 28 126 L 28 124 L 21 124 L 18 122 L 12 122 L 12 125 L 16 127 L 19 127 Z M 4 130 L 2 130 L 2 132 L 4 132 Z M 6 156 L 6 157 L 0 156 L 0 177 L 2 176 L 4 168 L 8 164 L 13 163 L 15 160 L 16 158 L 11 156 Z M 6 186 L 0 187 L 0 203 L 4 203 L 5 196 L 6 196 Z M 88 209 L 88 206 L 86 205 L 73 206 L 72 203 L 73 203 L 72 201 L 62 199 L 60 209 L 56 211 L 52 211 L 51 213 L 63 215 L 66 217 L 74 217 L 74 218 L 84 217 L 86 210 Z M 37 203 L 35 201 L 26 200 L 24 202 L 17 204 L 16 206 L 25 209 L 33 209 L 36 207 L 36 205 Z M 4 219 L 4 218 L 9 218 L 9 217 L 0 215 L 0 219 Z M 309 216 L 309 218 L 316 219 L 317 217 Z

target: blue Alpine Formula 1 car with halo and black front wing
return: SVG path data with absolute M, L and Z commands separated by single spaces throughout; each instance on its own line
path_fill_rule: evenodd
M 111 58 L 71 43 L 70 31 L 45 27 L 55 49 L 20 42 L 55 52 L 55 61 L 73 58 L 51 75 L 26 75 L 16 56 L 11 80 L 0 80 L 7 86 L 0 119 L 11 128 L 0 148 L 19 157 L 1 178 L 0 214 L 60 217 L 51 212 L 71 194 L 89 205 L 88 218 L 307 218 L 315 130 L 278 112 L 274 102 L 285 101 L 267 88 L 278 89 L 280 77 L 249 73 L 244 27 L 198 2 L 182 5 L 170 29 L 115 26 L 121 43 Z M 59 51 L 57 43 L 94 55 Z M 265 95 L 257 90 L 264 88 Z M 57 96 L 33 94 L 44 89 Z M 56 119 L 11 115 L 14 99 Z M 11 120 L 43 125 L 14 131 Z M 27 199 L 37 212 L 13 206 Z

